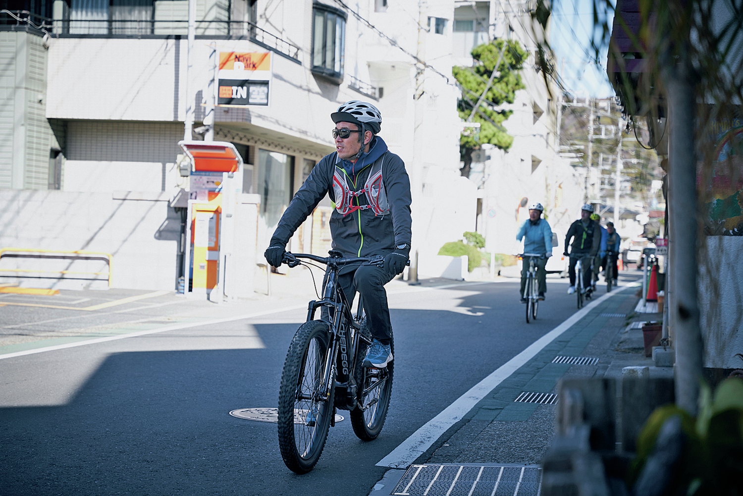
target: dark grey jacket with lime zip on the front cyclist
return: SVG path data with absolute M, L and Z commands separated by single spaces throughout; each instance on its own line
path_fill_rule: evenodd
M 330 218 L 333 249 L 340 251 L 345 257 L 384 256 L 395 250 L 397 245 L 410 245 L 410 180 L 403 160 L 389 152 L 382 138 L 375 137 L 369 154 L 354 165 L 354 169 L 359 169 L 357 172 L 350 175 L 346 173 L 348 186 L 354 191 L 363 190 L 371 164 L 375 161 L 382 161 L 382 181 L 389 202 L 389 214 L 377 215 L 368 209 L 355 210 L 343 216 L 333 209 Z M 337 168 L 343 170 L 343 162 L 337 152 L 325 155 L 319 161 L 282 215 L 276 231 L 273 232 L 271 246 L 286 246 L 294 231 L 326 194 L 330 195 L 333 202 L 336 201 L 333 176 Z M 354 199 L 354 204 L 355 202 L 369 203 L 363 194 Z

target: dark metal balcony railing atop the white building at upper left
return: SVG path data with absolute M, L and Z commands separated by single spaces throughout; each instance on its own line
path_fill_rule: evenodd
M 56 38 L 159 38 L 187 36 L 187 19 L 48 19 L 27 10 L 0 10 L 0 30 L 36 30 Z M 196 21 L 195 36 L 216 39 L 247 38 L 299 62 L 301 49 L 253 22 Z M 300 62 L 301 63 L 301 62 Z

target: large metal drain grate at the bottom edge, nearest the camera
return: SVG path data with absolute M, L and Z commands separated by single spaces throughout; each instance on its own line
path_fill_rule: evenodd
M 504 465 L 413 465 L 392 495 L 396 496 L 537 496 L 539 467 Z

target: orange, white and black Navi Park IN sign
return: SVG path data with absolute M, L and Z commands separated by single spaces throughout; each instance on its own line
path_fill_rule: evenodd
M 220 52 L 217 106 L 268 105 L 270 52 Z

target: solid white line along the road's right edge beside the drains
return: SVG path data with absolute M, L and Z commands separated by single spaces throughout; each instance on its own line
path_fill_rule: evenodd
M 426 424 L 421 426 L 418 431 L 415 431 L 408 439 L 401 442 L 400 445 L 392 450 L 392 452 L 390 452 L 386 457 L 377 462 L 377 466 L 391 468 L 409 467 L 413 462 L 415 462 L 416 458 L 420 457 L 421 454 L 424 454 L 426 450 L 433 445 L 436 439 L 441 437 L 441 434 L 444 434 L 448 428 L 464 418 L 464 416 L 467 415 L 467 413 L 472 410 L 473 407 L 485 397 L 485 395 L 498 386 L 498 384 L 507 379 L 511 374 L 516 372 L 516 370 L 519 370 L 519 367 L 531 360 L 531 358 L 534 358 L 537 353 L 542 351 L 542 349 L 554 341 L 554 339 L 563 332 L 570 329 L 574 323 L 577 323 L 577 321 L 580 321 L 580 319 L 585 317 L 591 309 L 603 300 L 606 300 L 611 297 L 612 294 L 622 292 L 629 287 L 630 286 L 617 288 L 617 291 L 606 293 L 597 300 L 593 300 L 591 303 L 584 306 L 583 309 L 580 309 L 571 315 L 568 320 L 543 335 L 542 338 L 534 341 L 529 347 L 511 358 L 499 367 L 498 370 L 491 373 L 490 376 L 479 381 L 469 391 L 467 391 L 467 393 L 464 393 L 441 413 L 426 422 Z

